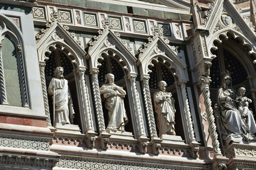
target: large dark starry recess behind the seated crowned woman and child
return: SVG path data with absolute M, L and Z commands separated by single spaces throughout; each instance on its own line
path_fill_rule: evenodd
M 219 35 L 219 40 L 213 41 L 214 48 L 211 54 L 215 56 L 212 59 L 210 67 L 210 99 L 214 108 L 214 116 L 217 125 L 217 132 L 221 148 L 227 148 L 228 143 L 222 139 L 223 124 L 221 112 L 217 103 L 217 90 L 221 85 L 221 72 L 229 71 L 232 78 L 232 88 L 238 91 L 238 88 L 245 87 L 245 96 L 252 99 L 249 108 L 255 114 L 256 98 L 255 98 L 255 60 L 256 55 L 253 52 L 253 44 L 246 43 L 243 36 L 237 36 L 234 32 L 227 32 L 226 35 Z M 239 96 L 239 94 L 237 93 Z M 255 119 L 255 116 L 254 116 Z

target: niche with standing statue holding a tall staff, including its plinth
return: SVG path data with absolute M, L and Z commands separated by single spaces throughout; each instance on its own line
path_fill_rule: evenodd
M 57 131 L 80 134 L 80 128 L 83 127 L 80 118 L 80 102 L 78 102 L 80 92 L 76 88 L 78 76 L 74 75 L 75 65 L 71 62 L 72 58 L 59 48 L 52 50 L 46 56 L 49 59 L 45 63 L 45 82 L 52 125 Z

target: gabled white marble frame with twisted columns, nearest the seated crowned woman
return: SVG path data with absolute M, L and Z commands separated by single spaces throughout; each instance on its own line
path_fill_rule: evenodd
M 157 137 L 155 121 L 154 121 L 154 112 L 153 106 L 151 103 L 151 96 L 150 96 L 150 89 L 148 86 L 148 80 L 150 78 L 149 73 L 151 72 L 150 68 L 154 66 L 155 63 L 161 62 L 164 64 L 173 74 L 174 79 L 176 81 L 176 88 L 177 91 L 180 91 L 179 94 L 182 95 L 183 101 L 179 101 L 183 103 L 185 110 L 185 119 L 186 119 L 186 127 L 188 130 L 189 135 L 189 143 L 191 150 L 193 151 L 193 157 L 198 157 L 198 146 L 199 143 L 196 142 L 192 120 L 191 120 L 191 113 L 189 111 L 189 104 L 187 98 L 187 91 L 186 91 L 186 79 L 184 74 L 184 69 L 187 65 L 183 62 L 180 58 L 180 54 L 177 54 L 176 48 L 169 46 L 169 42 L 167 40 L 163 40 L 161 33 L 158 33 L 158 29 L 155 29 L 153 32 L 153 38 L 148 38 L 148 43 L 144 43 L 144 48 L 140 49 L 139 59 L 137 62 L 137 66 L 140 67 L 141 73 L 141 80 L 143 80 L 143 93 L 146 103 L 146 111 L 148 122 L 150 126 L 150 135 L 152 138 L 152 145 L 153 151 L 155 154 L 159 151 L 159 145 L 161 140 Z M 180 109 L 184 109 L 180 108 Z M 161 146 L 161 145 L 160 145 Z

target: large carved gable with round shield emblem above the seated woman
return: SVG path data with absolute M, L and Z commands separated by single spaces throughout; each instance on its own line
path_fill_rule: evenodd
M 205 28 L 209 30 L 209 35 L 206 40 L 209 48 L 217 49 L 213 41 L 216 40 L 221 43 L 219 36 L 224 36 L 228 39 L 227 33 L 230 32 L 235 38 L 240 37 L 243 44 L 250 46 L 250 53 L 255 53 L 255 32 L 231 1 L 215 0 L 212 11 L 208 11 L 208 15 L 210 16 Z

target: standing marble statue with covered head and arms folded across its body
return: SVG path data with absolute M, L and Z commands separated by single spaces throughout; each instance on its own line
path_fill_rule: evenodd
M 123 98 L 126 92 L 122 87 L 114 84 L 114 75 L 106 74 L 105 84 L 99 89 L 103 100 L 105 101 L 105 106 L 108 109 L 108 127 L 106 131 L 124 131 L 125 124 L 128 123 L 127 114 L 124 108 Z

